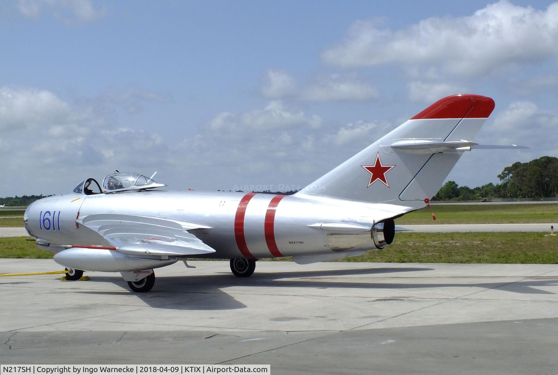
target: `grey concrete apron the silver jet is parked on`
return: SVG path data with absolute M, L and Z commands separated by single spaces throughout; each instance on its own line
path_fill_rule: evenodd
M 558 265 L 296 265 L 0 277 L 0 362 L 271 364 L 272 374 L 555 373 Z M 6 272 L 60 269 L 1 259 Z

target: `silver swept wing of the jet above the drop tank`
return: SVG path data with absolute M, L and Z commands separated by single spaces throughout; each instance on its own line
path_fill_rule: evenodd
M 135 255 L 189 256 L 215 252 L 188 232 L 211 227 L 168 217 L 101 213 L 76 219 L 99 233 L 119 252 Z

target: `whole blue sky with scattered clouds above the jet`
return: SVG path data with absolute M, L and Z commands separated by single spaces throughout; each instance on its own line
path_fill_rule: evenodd
M 449 179 L 558 154 L 558 3 L 0 3 L 0 196 L 112 169 L 304 187 L 437 99 L 496 109 Z

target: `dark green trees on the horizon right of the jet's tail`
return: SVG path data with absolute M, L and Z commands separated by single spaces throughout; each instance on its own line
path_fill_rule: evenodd
M 448 181 L 434 201 L 477 201 L 484 198 L 558 197 L 558 158 L 543 156 L 527 163 L 516 162 L 498 174 L 499 184 L 469 188 Z

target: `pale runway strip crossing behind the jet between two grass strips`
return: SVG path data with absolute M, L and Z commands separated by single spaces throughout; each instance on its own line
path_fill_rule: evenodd
M 558 232 L 557 223 L 524 224 L 425 224 L 401 225 L 401 227 L 420 233 L 448 232 L 549 232 L 550 226 Z M 25 228 L 0 228 L 0 237 L 28 236 Z

